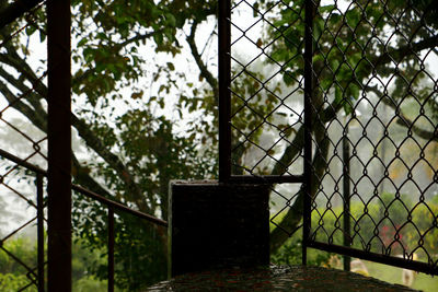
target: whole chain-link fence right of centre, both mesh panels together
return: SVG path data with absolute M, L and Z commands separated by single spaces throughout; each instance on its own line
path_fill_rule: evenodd
M 433 1 L 232 1 L 227 13 L 226 179 L 310 182 L 273 187 L 283 231 L 300 226 L 306 192 L 309 246 L 436 273 Z

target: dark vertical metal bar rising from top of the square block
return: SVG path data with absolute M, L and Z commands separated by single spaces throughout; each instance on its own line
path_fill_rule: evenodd
M 219 0 L 219 182 L 231 176 L 231 0 Z

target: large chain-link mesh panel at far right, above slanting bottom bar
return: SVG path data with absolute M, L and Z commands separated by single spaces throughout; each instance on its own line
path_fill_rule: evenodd
M 324 171 L 312 205 L 313 241 L 342 245 L 347 235 L 354 248 L 436 270 L 435 12 L 428 1 L 319 7 L 313 69 L 321 130 L 314 142 Z

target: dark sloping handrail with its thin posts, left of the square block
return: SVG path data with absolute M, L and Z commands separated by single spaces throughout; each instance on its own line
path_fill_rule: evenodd
M 43 186 L 43 179 L 44 177 L 47 177 L 47 172 L 44 171 L 43 168 L 35 166 L 26 161 L 21 160 L 20 157 L 16 157 L 15 155 L 5 152 L 0 149 L 0 156 L 4 157 L 13 163 L 15 163 L 19 166 L 24 167 L 27 171 L 31 171 L 35 174 L 36 177 L 36 189 L 37 189 L 37 200 L 36 200 L 36 209 L 37 209 L 37 215 L 36 218 L 32 219 L 31 221 L 26 222 L 24 225 L 21 227 L 14 230 L 3 238 L 1 238 L 0 243 L 5 242 L 8 238 L 10 238 L 12 235 L 14 235 L 16 232 L 19 232 L 21 229 L 25 227 L 26 225 L 31 224 L 33 221 L 37 221 L 37 268 L 30 268 L 25 262 L 23 262 L 20 258 L 14 256 L 12 253 L 3 248 L 2 244 L 0 244 L 0 248 L 5 252 L 9 256 L 11 256 L 14 260 L 20 262 L 26 270 L 27 275 L 26 277 L 31 280 L 28 285 L 23 287 L 20 291 L 23 291 L 27 289 L 30 285 L 35 284 L 38 288 L 38 291 L 45 291 L 45 276 L 44 276 L 44 270 L 45 270 L 45 256 L 44 256 L 44 222 L 45 222 L 45 217 L 44 217 L 44 208 L 46 205 L 44 203 L 43 195 L 44 195 L 44 186 Z M 107 225 L 108 225 L 108 232 L 107 232 L 107 275 L 108 275 L 108 291 L 114 291 L 114 240 L 115 240 L 115 234 L 114 234 L 114 212 L 115 210 L 122 211 L 131 215 L 135 215 L 139 219 L 146 220 L 148 222 L 151 222 L 153 224 L 160 225 L 168 227 L 168 222 L 161 219 L 158 219 L 155 217 L 152 217 L 150 214 L 142 213 L 140 211 L 130 209 L 126 207 L 123 203 L 119 203 L 114 200 L 110 200 L 99 194 L 95 194 L 91 190 L 88 190 L 81 186 L 78 185 L 72 185 L 72 189 L 84 195 L 88 198 L 91 198 L 93 200 L 100 201 L 102 205 L 106 206 L 107 208 Z M 36 272 L 35 272 L 36 270 Z M 64 279 L 59 279 L 59 281 L 62 281 Z

